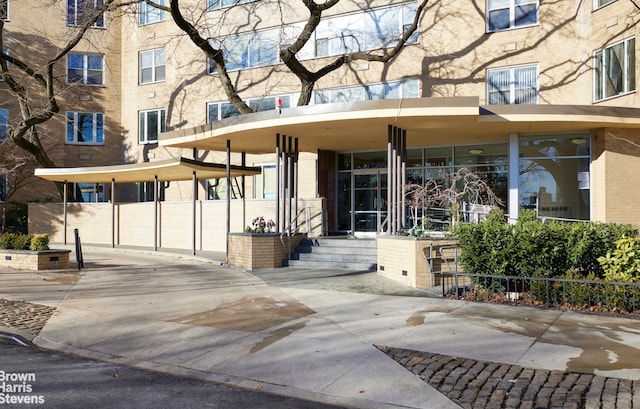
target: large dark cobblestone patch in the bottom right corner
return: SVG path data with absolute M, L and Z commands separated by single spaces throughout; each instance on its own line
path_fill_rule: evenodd
M 462 408 L 640 408 L 640 381 L 378 348 Z

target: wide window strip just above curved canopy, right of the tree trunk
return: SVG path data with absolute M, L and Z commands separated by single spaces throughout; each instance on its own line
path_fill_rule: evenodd
M 316 90 L 313 93 L 313 101 L 315 104 L 327 104 L 376 99 L 418 98 L 419 96 L 419 82 L 417 79 L 413 79 Z

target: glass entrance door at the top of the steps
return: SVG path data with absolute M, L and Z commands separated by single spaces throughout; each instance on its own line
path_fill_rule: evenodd
M 355 235 L 375 235 L 387 218 L 387 174 L 381 171 L 354 173 L 352 231 Z

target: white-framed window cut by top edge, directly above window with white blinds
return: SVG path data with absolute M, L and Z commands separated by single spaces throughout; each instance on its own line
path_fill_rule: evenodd
M 538 0 L 487 0 L 488 31 L 538 24 Z

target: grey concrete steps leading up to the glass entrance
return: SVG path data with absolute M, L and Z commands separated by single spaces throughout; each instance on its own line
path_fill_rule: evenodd
M 294 249 L 290 267 L 375 271 L 377 268 L 375 239 L 322 237 L 304 239 Z

